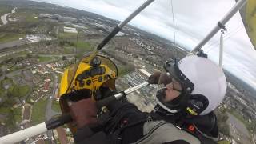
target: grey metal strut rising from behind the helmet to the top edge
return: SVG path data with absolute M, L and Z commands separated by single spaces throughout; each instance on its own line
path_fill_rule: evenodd
M 206 35 L 206 38 L 204 38 L 199 44 L 198 46 L 195 46 L 195 48 L 193 50 L 191 50 L 191 53 L 196 53 L 198 52 L 198 50 L 202 49 L 202 46 L 204 46 L 206 44 L 206 42 L 208 42 L 210 40 L 210 38 L 214 37 L 214 34 L 216 34 L 218 32 L 218 30 L 222 29 L 220 25 L 225 26 L 226 22 L 228 22 L 230 20 L 230 18 L 232 18 L 234 16 L 234 14 L 236 14 L 236 12 L 238 12 L 238 10 L 240 10 L 242 8 L 242 6 L 244 6 L 246 4 L 246 0 L 239 0 L 233 7 L 232 9 L 224 16 L 224 18 L 222 18 L 221 21 L 218 22 L 218 24 L 216 26 L 214 26 L 214 29 L 210 31 L 209 34 Z

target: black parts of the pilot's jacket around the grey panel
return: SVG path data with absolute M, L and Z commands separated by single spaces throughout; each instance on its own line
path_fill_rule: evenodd
M 218 135 L 218 128 L 216 122 L 212 121 L 210 116 L 203 116 L 197 119 L 190 119 L 185 121 L 180 116 L 174 114 L 166 114 L 165 110 L 161 107 L 152 112 L 151 114 L 143 113 L 134 104 L 123 101 L 116 101 L 108 106 L 110 114 L 99 118 L 99 124 L 97 126 L 84 126 L 78 129 L 74 135 L 74 141 L 76 143 L 96 143 L 96 144 L 108 144 L 108 143 L 133 143 L 143 137 L 143 125 L 150 119 L 162 119 L 166 122 L 171 122 L 174 125 L 186 126 L 189 123 L 196 123 L 196 126 L 204 134 L 215 137 Z M 215 117 L 214 117 L 215 118 Z M 103 119 L 103 121 L 102 121 Z M 177 123 L 176 123 L 177 122 Z M 203 123 L 201 125 L 200 123 Z M 216 131 L 217 130 L 217 131 Z M 195 135 L 197 136 L 197 134 Z M 200 135 L 202 136 L 202 135 Z M 186 143 L 185 141 L 167 142 L 167 143 Z

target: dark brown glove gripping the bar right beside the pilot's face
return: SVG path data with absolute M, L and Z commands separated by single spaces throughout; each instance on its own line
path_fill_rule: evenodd
M 150 75 L 148 82 L 150 84 L 164 84 L 167 85 L 171 82 L 171 78 L 167 73 L 164 72 L 155 72 L 154 74 Z

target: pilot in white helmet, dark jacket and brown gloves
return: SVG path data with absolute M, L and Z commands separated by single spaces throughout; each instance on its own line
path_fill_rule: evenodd
M 143 113 L 125 98 L 107 106 L 109 114 L 98 116 L 90 99 L 75 102 L 71 116 L 77 123 L 76 143 L 214 143 L 218 138 L 213 110 L 226 93 L 226 77 L 214 62 L 190 55 L 166 62 L 166 72 L 156 72 L 150 84 L 164 86 L 158 103 Z M 110 90 L 106 90 L 106 95 Z M 103 121 L 102 121 L 103 119 Z

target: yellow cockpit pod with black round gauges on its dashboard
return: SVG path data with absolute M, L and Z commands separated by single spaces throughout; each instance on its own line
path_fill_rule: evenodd
M 101 99 L 101 88 L 104 86 L 115 90 L 118 69 L 114 62 L 100 55 L 95 56 L 90 62 L 88 58 L 89 56 L 71 65 L 62 75 L 58 92 L 62 114 L 70 113 L 70 102 L 77 102 L 82 98 L 98 101 Z M 73 123 L 70 123 L 69 127 L 72 133 L 76 131 Z

